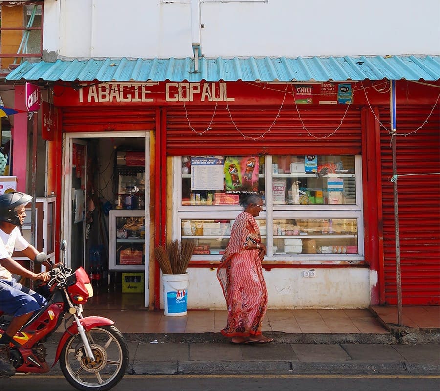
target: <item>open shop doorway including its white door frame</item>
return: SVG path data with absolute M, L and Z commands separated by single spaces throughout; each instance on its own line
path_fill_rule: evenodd
M 149 133 L 66 133 L 64 145 L 67 265 L 88 272 L 95 308 L 147 307 Z

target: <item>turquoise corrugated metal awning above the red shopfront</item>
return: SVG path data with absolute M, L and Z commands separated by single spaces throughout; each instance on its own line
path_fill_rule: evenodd
M 54 63 L 24 62 L 8 81 L 145 82 L 145 81 L 344 81 L 344 80 L 440 79 L 440 56 L 375 57 L 234 57 L 194 59 L 57 60 Z

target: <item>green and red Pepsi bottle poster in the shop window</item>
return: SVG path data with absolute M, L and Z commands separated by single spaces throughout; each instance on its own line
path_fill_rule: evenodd
M 226 157 L 224 175 L 226 193 L 258 193 L 258 156 Z

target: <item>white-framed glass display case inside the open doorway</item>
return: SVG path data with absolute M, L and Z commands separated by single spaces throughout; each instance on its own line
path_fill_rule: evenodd
M 110 210 L 109 270 L 145 269 L 145 212 Z

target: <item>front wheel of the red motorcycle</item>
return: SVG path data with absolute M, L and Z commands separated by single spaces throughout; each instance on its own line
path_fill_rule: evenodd
M 79 334 L 63 347 L 60 367 L 66 380 L 78 390 L 110 390 L 127 371 L 127 341 L 114 326 L 94 327 L 86 332 L 95 361 L 87 358 Z

